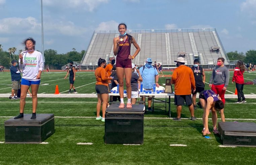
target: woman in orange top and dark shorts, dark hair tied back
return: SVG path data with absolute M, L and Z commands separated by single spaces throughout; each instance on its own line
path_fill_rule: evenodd
M 105 111 L 107 109 L 107 104 L 108 104 L 108 80 L 113 79 L 112 77 L 109 77 L 108 73 L 106 72 L 105 70 L 106 66 L 107 66 L 106 60 L 99 58 L 98 67 L 95 70 L 95 77 L 97 81 L 95 90 L 98 96 L 96 120 L 101 120 L 103 122 L 105 122 Z M 102 117 L 100 116 L 101 103 L 102 103 Z

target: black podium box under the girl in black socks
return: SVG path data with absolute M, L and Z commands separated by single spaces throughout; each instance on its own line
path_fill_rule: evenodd
M 5 143 L 41 143 L 54 133 L 54 114 L 24 114 L 23 118 L 10 118 L 4 122 Z

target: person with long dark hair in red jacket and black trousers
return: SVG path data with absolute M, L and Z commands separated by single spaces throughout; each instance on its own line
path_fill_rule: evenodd
M 232 84 L 235 82 L 235 88 L 237 90 L 237 101 L 235 103 L 246 103 L 245 101 L 245 95 L 243 92 L 244 89 L 244 72 L 245 72 L 245 66 L 244 62 L 241 60 L 237 61 L 235 70 L 234 70 L 234 75 L 232 78 Z M 242 100 L 241 100 L 242 98 Z

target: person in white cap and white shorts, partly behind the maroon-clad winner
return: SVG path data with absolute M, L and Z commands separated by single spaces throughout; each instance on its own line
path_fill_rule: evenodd
M 135 104 L 137 98 L 139 98 L 139 90 L 138 84 L 142 81 L 142 77 L 140 71 L 136 69 L 136 66 L 132 63 L 132 79 L 131 79 L 131 86 L 132 86 L 132 104 Z

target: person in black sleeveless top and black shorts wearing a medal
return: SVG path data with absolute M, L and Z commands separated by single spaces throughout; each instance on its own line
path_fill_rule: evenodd
M 194 66 L 191 67 L 195 77 L 195 92 L 192 93 L 194 109 L 196 109 L 196 93 L 205 90 L 205 70 L 199 66 L 199 60 L 194 60 Z M 203 77 L 203 78 L 202 78 Z

